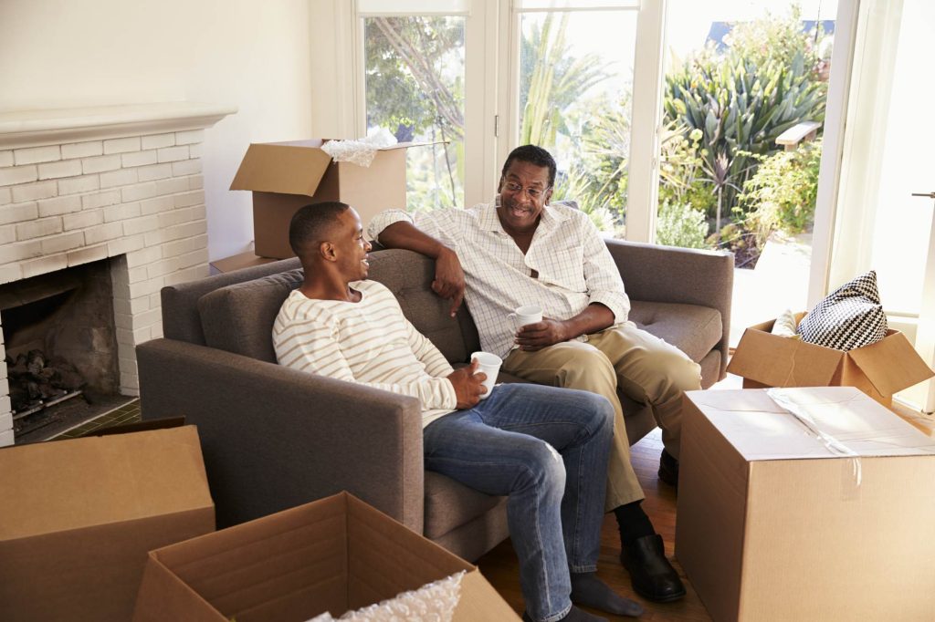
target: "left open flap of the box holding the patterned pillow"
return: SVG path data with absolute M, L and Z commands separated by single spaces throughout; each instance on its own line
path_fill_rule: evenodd
M 844 353 L 771 334 L 772 322 L 743 332 L 727 372 L 770 387 L 823 387 L 831 382 Z

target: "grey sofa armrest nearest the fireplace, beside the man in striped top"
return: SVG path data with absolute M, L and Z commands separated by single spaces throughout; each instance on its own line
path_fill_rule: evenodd
M 172 339 L 137 362 L 143 417 L 198 427 L 219 527 L 348 490 L 422 533 L 418 400 Z

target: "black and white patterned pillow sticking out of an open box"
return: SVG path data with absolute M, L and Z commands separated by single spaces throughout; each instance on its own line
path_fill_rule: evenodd
M 880 304 L 876 272 L 841 285 L 798 324 L 802 341 L 837 350 L 870 346 L 886 336 L 886 314 Z

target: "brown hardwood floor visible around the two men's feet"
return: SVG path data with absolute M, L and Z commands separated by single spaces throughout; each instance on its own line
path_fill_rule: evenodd
M 646 501 L 643 502 L 643 509 L 653 521 L 655 530 L 658 531 L 666 542 L 666 554 L 672 558 L 672 550 L 675 544 L 675 503 L 676 496 L 674 488 L 660 482 L 656 477 L 656 471 L 659 468 L 659 453 L 662 451 L 662 439 L 658 428 L 648 436 L 640 440 L 639 443 L 631 448 L 631 457 L 633 468 L 640 478 L 640 484 L 646 493 Z M 681 601 L 669 603 L 655 603 L 646 601 L 637 596 L 636 592 L 630 587 L 629 574 L 626 573 L 623 566 L 620 565 L 620 536 L 617 534 L 617 523 L 613 515 L 604 517 L 604 525 L 601 530 L 600 558 L 597 561 L 597 574 L 618 594 L 626 596 L 640 602 L 645 609 L 645 613 L 640 616 L 640 620 L 711 620 L 711 616 L 705 610 L 704 605 L 698 600 L 698 594 L 692 588 L 691 583 L 685 577 L 682 567 L 678 560 L 673 559 L 675 569 L 682 575 L 682 580 L 688 593 Z M 513 552 L 510 541 L 497 546 L 494 550 L 487 553 L 477 561 L 481 572 L 496 587 L 496 590 L 508 601 L 518 614 L 522 614 L 523 596 L 520 593 L 519 584 L 519 566 L 516 561 L 516 554 Z M 604 615 L 611 620 L 626 620 L 633 618 L 619 617 L 615 615 L 603 614 L 593 611 L 595 614 Z

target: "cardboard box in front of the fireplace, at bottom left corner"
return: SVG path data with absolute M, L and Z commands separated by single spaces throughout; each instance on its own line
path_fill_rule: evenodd
M 194 426 L 0 449 L 0 619 L 127 620 L 148 552 L 214 530 Z

